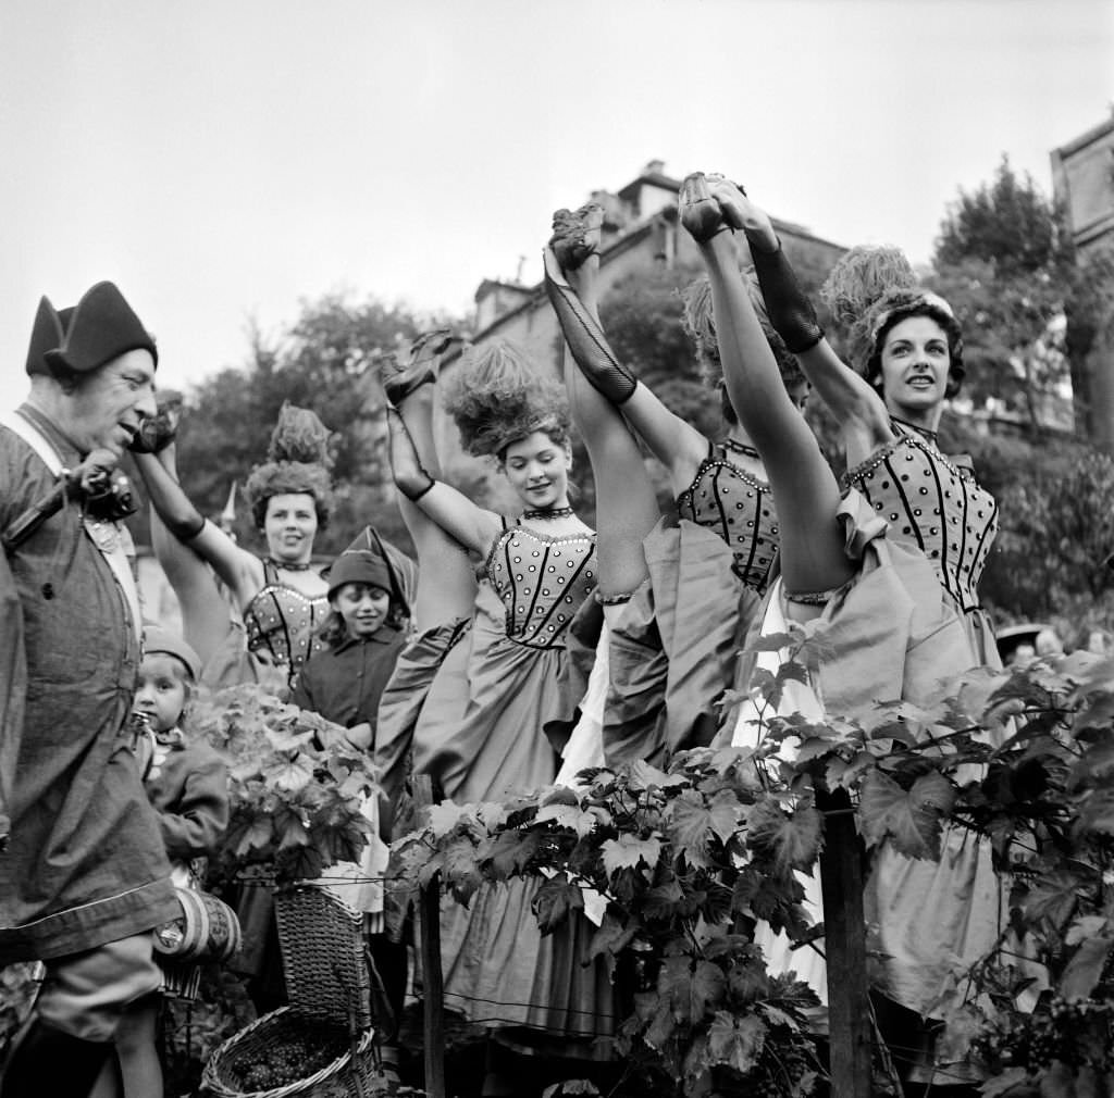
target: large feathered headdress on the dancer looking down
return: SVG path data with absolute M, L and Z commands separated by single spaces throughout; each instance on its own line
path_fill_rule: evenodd
M 569 441 L 564 386 L 539 374 L 511 343 L 466 351 L 446 380 L 444 410 L 456 421 L 461 444 L 476 457 L 501 460 L 507 447 L 535 431 L 561 445 Z

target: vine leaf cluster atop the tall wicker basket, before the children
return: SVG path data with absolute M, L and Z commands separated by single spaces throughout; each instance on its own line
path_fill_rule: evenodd
M 203 696 L 193 724 L 229 762 L 224 874 L 262 867 L 276 882 L 292 882 L 360 860 L 369 836 L 361 805 L 379 795 L 379 785 L 343 728 L 256 684 Z

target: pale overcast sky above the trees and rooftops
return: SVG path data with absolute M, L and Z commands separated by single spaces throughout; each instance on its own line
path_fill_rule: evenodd
M 0 0 L 0 406 L 42 294 L 111 278 L 188 388 L 326 293 L 536 281 L 652 159 L 927 262 L 1112 102 L 1114 0 Z

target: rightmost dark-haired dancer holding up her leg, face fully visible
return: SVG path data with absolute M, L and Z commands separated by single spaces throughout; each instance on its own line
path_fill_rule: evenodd
M 810 629 L 827 641 L 811 668 L 821 712 L 869 726 L 878 699 L 931 704 L 984 661 L 987 637 L 993 644 L 974 586 L 996 508 L 935 442 L 942 401 L 961 376 L 950 310 L 908 287 L 872 310 L 867 357 L 877 361 L 883 398 L 828 346 L 769 219 L 740 188 L 690 177 L 681 216 L 709 264 L 729 392 L 739 393 L 736 408 L 782 501 L 782 580 L 768 614 L 820 619 Z M 811 433 L 790 415 L 772 364 L 756 353 L 756 321 L 727 259 L 736 229 L 746 233 L 771 321 L 844 424 L 851 470 L 843 491 Z M 925 1021 L 934 1002 L 958 963 L 998 947 L 1006 924 L 989 844 L 950 827 L 942 847 L 932 862 L 882 844 L 864 896 L 868 923 L 877 927 L 879 1021 L 915 1082 L 934 1071 Z

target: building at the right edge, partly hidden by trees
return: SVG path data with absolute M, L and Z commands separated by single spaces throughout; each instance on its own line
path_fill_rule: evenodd
M 1053 193 L 1063 209 L 1081 263 L 1114 249 L 1114 112 L 1105 121 L 1052 151 Z M 1114 453 L 1114 303 L 1072 383 L 1091 439 Z

